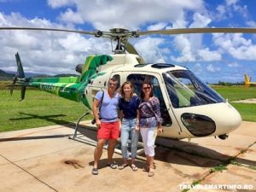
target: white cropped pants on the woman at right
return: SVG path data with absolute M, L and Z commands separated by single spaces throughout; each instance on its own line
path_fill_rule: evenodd
M 149 157 L 154 157 L 154 141 L 157 135 L 156 127 L 140 128 L 140 131 L 143 137 L 145 154 Z

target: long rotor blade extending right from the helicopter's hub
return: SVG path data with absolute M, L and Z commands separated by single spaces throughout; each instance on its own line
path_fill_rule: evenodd
M 180 29 L 166 29 L 137 32 L 140 35 L 161 34 L 161 35 L 178 35 L 178 34 L 192 34 L 192 33 L 256 33 L 256 28 L 180 28 Z

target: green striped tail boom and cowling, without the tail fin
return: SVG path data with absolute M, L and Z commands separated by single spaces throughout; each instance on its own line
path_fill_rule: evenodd
M 30 79 L 28 84 L 75 102 L 83 102 L 85 107 L 91 109 L 84 90 L 91 79 L 105 74 L 97 73 L 97 68 L 112 60 L 111 55 L 90 55 L 84 62 L 80 77 L 36 78 Z

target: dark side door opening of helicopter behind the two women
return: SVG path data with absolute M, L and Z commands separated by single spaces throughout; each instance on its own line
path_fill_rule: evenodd
M 166 108 L 166 102 L 164 101 L 164 97 L 160 90 L 160 84 L 158 82 L 158 79 L 156 79 L 152 75 L 131 74 L 127 77 L 127 80 L 131 81 L 131 83 L 134 85 L 134 91 L 137 94 L 137 96 L 141 96 L 143 82 L 148 81 L 148 82 L 151 82 L 151 84 L 153 84 L 154 96 L 156 96 L 160 101 L 160 112 L 161 112 L 161 117 L 163 119 L 162 125 L 171 126 L 172 119 Z

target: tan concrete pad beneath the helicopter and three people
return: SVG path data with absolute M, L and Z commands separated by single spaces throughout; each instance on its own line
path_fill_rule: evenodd
M 142 171 L 143 154 L 138 156 L 137 172 L 130 167 L 119 171 L 105 166 L 106 151 L 100 174 L 91 175 L 95 147 L 90 143 L 96 132 L 80 132 L 78 137 L 88 144 L 68 139 L 73 126 L 0 133 L 0 191 L 175 192 L 184 191 L 192 183 L 197 183 L 197 189 L 189 192 L 256 191 L 256 123 L 242 122 L 227 140 L 206 137 L 189 143 L 158 138 L 154 177 Z M 114 154 L 114 159 L 121 163 L 120 154 Z

